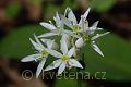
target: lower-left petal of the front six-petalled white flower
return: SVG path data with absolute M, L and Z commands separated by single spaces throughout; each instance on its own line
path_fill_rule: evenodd
M 60 64 L 61 64 L 61 59 L 58 59 L 53 61 L 50 65 L 48 65 L 44 71 L 57 69 L 58 66 L 60 66 Z

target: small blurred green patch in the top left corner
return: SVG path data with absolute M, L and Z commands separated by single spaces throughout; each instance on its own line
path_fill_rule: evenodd
M 5 14 L 8 17 L 14 18 L 17 16 L 22 9 L 22 5 L 16 2 L 10 2 L 8 7 L 5 8 Z

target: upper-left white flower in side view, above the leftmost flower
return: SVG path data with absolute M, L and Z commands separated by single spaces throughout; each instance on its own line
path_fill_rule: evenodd
M 64 29 L 63 21 L 59 17 L 58 13 L 53 17 L 53 20 L 56 22 L 56 26 L 51 22 L 50 22 L 51 24 L 45 23 L 45 22 L 40 23 L 41 26 L 49 29 L 50 32 L 38 36 L 39 38 L 50 37 L 50 36 L 56 36 L 56 35 L 63 35 L 63 34 L 68 34 L 68 35 L 79 38 L 79 36 L 74 35 L 72 32 Z

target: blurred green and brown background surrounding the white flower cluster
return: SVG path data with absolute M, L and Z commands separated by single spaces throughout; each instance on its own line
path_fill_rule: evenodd
M 33 34 L 46 32 L 39 22 L 52 20 L 56 12 L 70 7 L 78 20 L 88 7 L 88 22 L 99 21 L 98 27 L 111 34 L 98 39 L 105 58 L 94 50 L 83 50 L 86 66 L 82 72 L 106 72 L 106 79 L 57 80 L 33 78 L 24 80 L 22 72 L 34 74 L 38 63 L 21 63 L 33 53 L 28 40 Z M 0 0 L 0 87 L 131 87 L 131 0 Z M 90 50 L 91 49 L 91 50 Z M 64 84 L 63 84 L 64 83 Z M 76 83 L 76 84 L 74 84 Z

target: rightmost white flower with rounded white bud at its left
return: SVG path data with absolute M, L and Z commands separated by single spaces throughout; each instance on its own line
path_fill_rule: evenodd
M 104 33 L 104 34 L 96 34 L 96 35 L 95 35 L 95 32 L 96 32 L 96 30 L 102 29 L 102 28 L 98 28 L 98 27 L 97 27 L 97 24 L 98 24 L 98 21 L 95 22 L 92 27 L 88 27 L 88 26 L 86 26 L 86 24 L 85 24 L 85 22 L 84 22 L 84 25 L 83 25 L 84 30 L 82 30 L 82 33 L 83 33 L 83 34 L 82 34 L 82 37 L 79 38 L 79 39 L 75 41 L 75 46 L 76 46 L 78 48 L 81 48 L 81 47 L 83 47 L 84 45 L 90 44 L 91 47 L 92 47 L 96 52 L 98 52 L 102 57 L 104 57 L 103 52 L 100 51 L 100 49 L 99 49 L 98 46 L 96 45 L 95 40 L 96 40 L 97 38 L 104 36 L 104 35 L 109 34 L 109 32 L 106 32 L 106 33 Z

